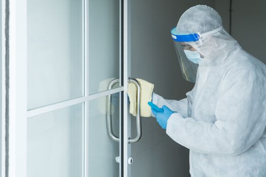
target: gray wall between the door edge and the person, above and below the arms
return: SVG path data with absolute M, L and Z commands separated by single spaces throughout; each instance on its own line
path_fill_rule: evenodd
M 134 0 L 131 3 L 131 76 L 154 83 L 154 92 L 167 99 L 185 98 L 194 84 L 182 78 L 170 29 L 189 7 L 197 4 L 214 7 L 215 2 Z M 135 132 L 134 122 L 132 129 Z M 142 130 L 141 140 L 131 149 L 132 177 L 189 176 L 186 148 L 172 141 L 153 117 L 142 118 Z

